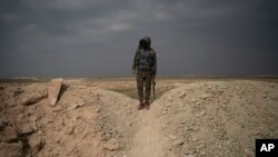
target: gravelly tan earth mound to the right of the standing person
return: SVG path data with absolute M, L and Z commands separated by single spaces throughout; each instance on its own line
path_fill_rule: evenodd
M 278 137 L 277 84 L 191 84 L 156 104 L 162 106 L 166 156 L 255 156 L 256 138 Z

